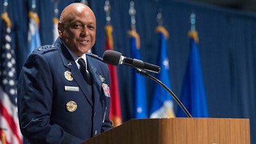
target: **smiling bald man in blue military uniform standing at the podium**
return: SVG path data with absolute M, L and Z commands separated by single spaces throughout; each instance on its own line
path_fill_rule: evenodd
M 109 71 L 88 51 L 96 19 L 82 3 L 68 5 L 53 45 L 36 48 L 20 72 L 20 130 L 30 143 L 82 143 L 112 128 Z

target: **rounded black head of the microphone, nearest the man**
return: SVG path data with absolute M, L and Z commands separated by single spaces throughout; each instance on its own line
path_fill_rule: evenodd
M 120 58 L 122 56 L 122 53 L 113 51 L 113 50 L 106 50 L 103 53 L 103 60 L 105 63 L 108 63 L 110 65 L 119 65 Z

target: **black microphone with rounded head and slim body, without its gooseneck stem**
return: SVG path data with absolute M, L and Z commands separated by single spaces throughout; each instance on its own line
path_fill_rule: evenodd
M 155 73 L 159 73 L 160 69 L 161 69 L 157 65 L 145 63 L 145 62 L 135 59 L 135 58 L 134 59 L 127 58 L 125 56 L 122 56 L 121 52 L 113 51 L 113 50 L 104 51 L 103 60 L 105 63 L 108 63 L 110 65 L 116 65 L 116 66 L 117 65 L 128 65 L 130 67 L 141 68 L 143 70 L 147 70 L 147 71 L 155 72 Z

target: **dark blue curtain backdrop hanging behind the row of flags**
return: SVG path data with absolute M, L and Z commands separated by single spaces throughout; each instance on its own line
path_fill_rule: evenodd
M 3 0 L 1 0 L 3 3 Z M 63 10 L 72 0 L 60 0 Z M 131 21 L 129 0 L 110 0 L 111 24 L 116 51 L 131 56 L 129 36 Z M 256 143 L 256 13 L 241 12 L 189 1 L 137 0 L 136 29 L 141 38 L 141 59 L 157 64 L 156 14 L 162 9 L 164 26 L 169 31 L 168 56 L 172 90 L 179 97 L 188 60 L 190 29 L 189 15 L 196 13 L 196 30 L 200 38 L 198 48 L 204 75 L 205 93 L 212 118 L 250 118 L 251 143 Z M 102 56 L 105 45 L 106 24 L 104 0 L 89 1 L 97 17 L 97 44 L 93 52 Z M 3 5 L 1 12 L 3 12 Z M 12 20 L 13 44 L 17 54 L 17 70 L 26 60 L 28 52 L 28 11 L 30 0 L 9 0 L 8 13 Z M 52 43 L 52 0 L 36 0 L 40 17 L 42 44 Z M 0 23 L 1 26 L 1 23 Z M 124 122 L 131 119 L 132 70 L 120 66 L 118 80 Z M 153 74 L 154 76 L 154 74 Z M 154 81 L 147 79 L 148 106 L 152 99 Z M 177 104 L 175 103 L 175 109 Z

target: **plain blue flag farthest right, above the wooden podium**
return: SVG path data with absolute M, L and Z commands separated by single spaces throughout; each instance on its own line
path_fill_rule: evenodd
M 192 32 L 196 33 L 196 31 Z M 193 117 L 208 117 L 200 55 L 195 40 L 195 38 L 190 38 L 189 60 L 180 100 Z M 181 108 L 178 108 L 176 116 L 184 117 L 186 115 Z

